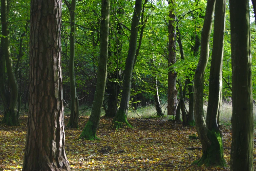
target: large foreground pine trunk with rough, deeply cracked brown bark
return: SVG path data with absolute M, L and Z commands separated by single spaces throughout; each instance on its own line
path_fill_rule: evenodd
M 23 171 L 70 170 L 65 153 L 61 0 L 32 0 L 30 102 Z

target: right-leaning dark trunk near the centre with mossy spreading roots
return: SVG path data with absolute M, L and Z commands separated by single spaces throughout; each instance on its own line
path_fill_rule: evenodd
M 138 25 L 140 23 L 140 14 L 141 14 L 142 0 L 135 1 L 135 8 L 132 17 L 131 23 L 131 35 L 130 35 L 130 43 L 129 43 L 129 51 L 128 56 L 126 58 L 126 65 L 124 71 L 124 82 L 123 82 L 123 94 L 121 98 L 121 103 L 117 115 L 114 117 L 112 123 L 117 127 L 122 125 L 119 122 L 125 123 L 131 127 L 131 125 L 127 121 L 127 114 L 129 108 L 129 100 L 130 100 L 130 92 L 131 92 L 131 78 L 132 78 L 132 70 L 134 66 L 134 58 L 136 54 L 136 46 L 137 46 L 137 37 L 138 37 Z M 119 126 L 118 126 L 119 125 Z

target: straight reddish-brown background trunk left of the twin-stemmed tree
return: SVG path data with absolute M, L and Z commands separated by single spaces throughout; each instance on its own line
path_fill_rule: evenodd
M 169 2 L 169 24 L 168 24 L 168 99 L 167 99 L 167 115 L 176 115 L 177 110 L 177 90 L 176 90 L 176 72 L 172 65 L 176 62 L 176 27 L 175 27 L 175 1 Z

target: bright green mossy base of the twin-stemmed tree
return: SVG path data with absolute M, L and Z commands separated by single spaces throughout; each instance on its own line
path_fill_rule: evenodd
M 220 166 L 225 167 L 226 161 L 224 160 L 222 136 L 220 132 L 216 130 L 208 131 L 208 139 L 211 141 L 211 146 L 208 147 L 207 151 L 203 151 L 202 158 L 198 161 L 193 162 L 201 166 Z

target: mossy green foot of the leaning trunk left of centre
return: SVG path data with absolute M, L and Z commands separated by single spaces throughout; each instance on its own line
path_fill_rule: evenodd
M 99 138 L 96 136 L 96 130 L 97 128 L 95 128 L 93 122 L 88 120 L 79 138 L 86 140 L 98 140 Z

